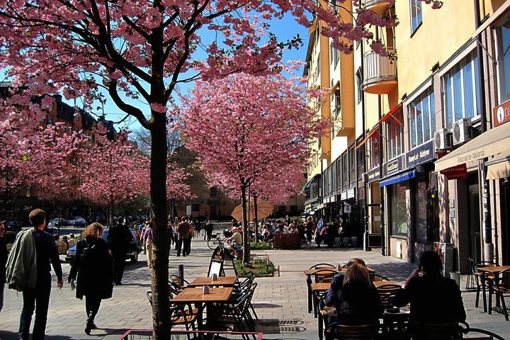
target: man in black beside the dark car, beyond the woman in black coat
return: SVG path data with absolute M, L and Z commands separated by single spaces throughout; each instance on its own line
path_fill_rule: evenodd
M 115 285 L 122 285 L 124 275 L 125 257 L 128 254 L 128 247 L 132 240 L 132 234 L 127 225 L 119 220 L 108 232 L 108 248 L 113 255 L 113 282 Z

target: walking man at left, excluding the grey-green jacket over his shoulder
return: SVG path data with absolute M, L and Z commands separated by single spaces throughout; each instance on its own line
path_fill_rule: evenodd
M 32 339 L 40 340 L 45 338 L 47 310 L 50 305 L 50 262 L 55 274 L 57 274 L 58 288 L 62 288 L 64 281 L 62 280 L 62 266 L 60 266 L 57 244 L 55 244 L 52 235 L 44 231 L 46 225 L 45 212 L 40 209 L 32 210 L 30 215 L 28 215 L 28 219 L 30 224 L 34 226 L 32 235 L 35 242 L 35 256 L 37 259 L 37 281 L 35 288 L 23 290 L 23 310 L 21 310 L 18 339 L 28 339 L 30 322 L 35 310 Z

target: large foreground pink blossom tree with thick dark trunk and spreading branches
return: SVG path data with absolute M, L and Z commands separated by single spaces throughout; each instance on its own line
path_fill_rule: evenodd
M 439 1 L 422 0 L 437 6 Z M 336 6 L 336 5 L 339 6 Z M 354 8 L 352 8 L 354 4 Z M 154 339 L 169 338 L 166 232 L 166 108 L 177 86 L 199 77 L 236 72 L 278 72 L 282 51 L 300 38 L 278 41 L 271 20 L 294 16 L 305 26 L 324 23 L 321 32 L 334 47 L 351 52 L 353 40 L 385 49 L 370 26 L 395 26 L 363 7 L 339 0 L 4 0 L 0 1 L 0 68 L 16 89 L 67 99 L 94 98 L 103 91 L 127 115 L 151 132 L 150 200 L 154 213 L 152 272 Z M 356 18 L 339 18 L 348 11 Z M 147 115 L 134 104 L 147 105 Z

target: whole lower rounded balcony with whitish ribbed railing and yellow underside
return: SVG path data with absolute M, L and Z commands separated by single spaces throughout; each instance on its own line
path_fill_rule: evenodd
M 387 48 L 395 55 L 393 48 Z M 397 59 L 370 51 L 363 56 L 363 91 L 368 94 L 389 94 L 397 86 Z

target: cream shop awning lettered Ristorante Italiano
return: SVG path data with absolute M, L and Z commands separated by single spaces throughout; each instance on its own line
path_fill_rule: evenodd
M 510 151 L 509 145 L 510 123 L 499 125 L 458 147 L 445 157 L 438 159 L 435 163 L 435 170 L 439 172 L 453 166 L 496 155 L 502 158 L 507 157 L 509 154 L 505 154 L 505 152 Z

